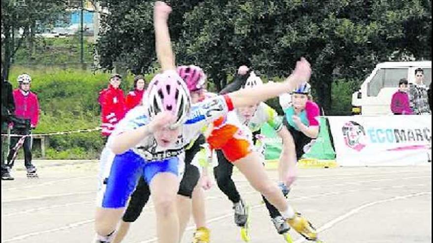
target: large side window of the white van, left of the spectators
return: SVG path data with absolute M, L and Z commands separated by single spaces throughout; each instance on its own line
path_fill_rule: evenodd
M 407 78 L 407 68 L 379 69 L 371 79 L 367 89 L 367 96 L 377 96 L 382 88 L 398 87 L 402 78 Z

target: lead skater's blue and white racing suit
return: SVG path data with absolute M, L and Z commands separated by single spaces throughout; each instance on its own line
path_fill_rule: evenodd
M 162 148 L 153 136 L 146 137 L 123 154 L 110 152 L 110 158 L 101 164 L 96 204 L 102 208 L 125 207 L 140 176 L 148 184 L 158 173 L 169 172 L 182 177 L 185 167 L 185 148 L 201 134 L 202 128 L 233 109 L 228 96 L 216 96 L 191 107 L 182 132 L 170 148 Z M 133 131 L 149 123 L 144 106 L 131 109 L 108 139 L 108 147 L 116 135 Z M 181 179 L 181 178 L 180 178 Z

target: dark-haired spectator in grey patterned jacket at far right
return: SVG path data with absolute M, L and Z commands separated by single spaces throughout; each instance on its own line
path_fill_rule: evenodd
M 415 83 L 409 84 L 409 104 L 415 115 L 431 114 L 427 87 L 424 85 L 424 70 L 415 70 Z

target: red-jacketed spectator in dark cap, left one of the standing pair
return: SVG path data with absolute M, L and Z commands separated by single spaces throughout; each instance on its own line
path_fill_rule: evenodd
M 124 91 L 120 89 L 122 76 L 113 74 L 110 78 L 108 88 L 99 93 L 99 104 L 101 105 L 101 128 L 102 135 L 108 137 L 114 130 L 115 125 L 124 118 L 126 107 L 124 102 Z

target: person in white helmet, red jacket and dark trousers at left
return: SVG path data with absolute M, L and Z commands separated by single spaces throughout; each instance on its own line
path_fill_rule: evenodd
M 18 76 L 18 89 L 13 91 L 15 101 L 15 118 L 12 134 L 30 135 L 31 129 L 36 128 L 39 120 L 39 102 L 36 94 L 30 91 L 31 77 L 28 74 Z M 14 161 L 12 160 L 16 152 L 16 144 L 21 137 L 12 136 L 10 138 L 9 155 L 7 164 L 12 168 Z M 26 136 L 23 143 L 24 148 L 24 165 L 27 169 L 29 177 L 36 176 L 36 168 L 31 164 L 31 137 Z

